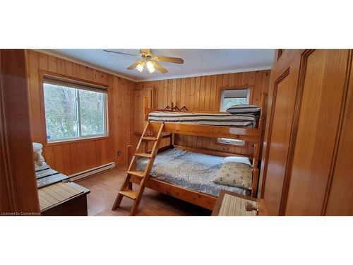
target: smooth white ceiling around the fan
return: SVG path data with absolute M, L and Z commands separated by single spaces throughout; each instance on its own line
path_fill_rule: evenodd
M 139 54 L 139 49 L 110 50 Z M 115 73 L 132 81 L 150 81 L 270 69 L 274 55 L 274 49 L 152 49 L 155 55 L 181 57 L 184 59 L 184 64 L 160 62 L 168 70 L 168 73 L 159 73 L 157 71 L 149 73 L 147 69 L 140 73 L 136 69 L 126 69 L 138 60 L 137 57 L 112 54 L 104 52 L 103 49 L 45 49 L 44 52 L 90 64 L 98 69 Z

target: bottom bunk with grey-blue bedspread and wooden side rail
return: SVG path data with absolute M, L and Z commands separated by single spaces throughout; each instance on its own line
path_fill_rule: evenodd
M 220 157 L 170 148 L 156 156 L 146 187 L 213 210 L 221 190 L 251 195 L 249 189 L 213 182 L 225 162 L 251 165 L 246 157 Z M 147 163 L 147 159 L 140 158 L 136 170 L 143 171 Z M 138 177 L 131 180 L 140 183 Z

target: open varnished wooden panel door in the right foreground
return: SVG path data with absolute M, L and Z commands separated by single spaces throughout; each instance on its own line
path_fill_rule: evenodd
M 349 49 L 277 50 L 261 165 L 266 214 L 353 213 L 351 67 Z

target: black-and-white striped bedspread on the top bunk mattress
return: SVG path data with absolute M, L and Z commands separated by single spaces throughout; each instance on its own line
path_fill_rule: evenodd
M 150 122 L 177 122 L 199 125 L 256 128 L 257 118 L 252 114 L 201 112 L 150 112 Z

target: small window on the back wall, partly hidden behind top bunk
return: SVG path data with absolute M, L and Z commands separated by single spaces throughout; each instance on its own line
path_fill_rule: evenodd
M 225 112 L 228 107 L 231 107 L 234 105 L 249 104 L 249 98 L 250 98 L 250 90 L 247 88 L 222 90 L 220 111 Z M 218 138 L 217 142 L 234 144 L 237 146 L 245 145 L 245 141 L 237 140 L 237 139 Z

